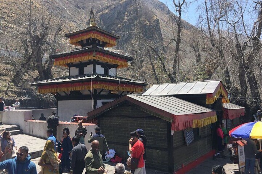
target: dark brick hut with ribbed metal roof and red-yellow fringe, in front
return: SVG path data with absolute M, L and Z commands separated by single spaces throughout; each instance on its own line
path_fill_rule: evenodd
M 109 148 L 127 159 L 129 132 L 148 138 L 146 166 L 174 172 L 212 151 L 216 112 L 173 96 L 125 95 L 88 113 L 97 118 Z

